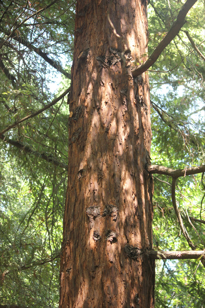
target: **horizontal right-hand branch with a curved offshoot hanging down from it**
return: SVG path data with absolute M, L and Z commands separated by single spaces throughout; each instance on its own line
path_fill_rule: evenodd
M 199 166 L 199 167 L 192 167 L 192 168 L 184 168 L 184 169 L 171 169 L 167 168 L 164 166 L 159 166 L 159 165 L 151 165 L 148 166 L 148 172 L 149 174 L 164 174 L 168 176 L 172 176 L 173 178 L 177 179 L 180 176 L 187 176 L 191 174 L 196 174 L 196 173 L 202 173 L 205 172 L 205 165 Z

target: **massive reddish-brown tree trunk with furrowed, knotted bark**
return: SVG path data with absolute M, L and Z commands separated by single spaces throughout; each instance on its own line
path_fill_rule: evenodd
M 144 0 L 77 1 L 61 308 L 154 307 L 147 29 Z

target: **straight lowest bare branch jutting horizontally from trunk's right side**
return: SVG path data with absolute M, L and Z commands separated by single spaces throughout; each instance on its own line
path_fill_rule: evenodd
M 205 250 L 184 250 L 184 251 L 160 251 L 149 250 L 148 255 L 150 259 L 198 259 L 203 256 L 205 258 Z

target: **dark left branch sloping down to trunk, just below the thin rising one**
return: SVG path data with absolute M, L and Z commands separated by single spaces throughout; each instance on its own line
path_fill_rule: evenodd
M 55 157 L 47 154 L 47 153 L 39 153 L 37 151 L 32 150 L 31 148 L 29 148 L 28 146 L 23 145 L 22 143 L 6 138 L 4 135 L 0 135 L 0 138 L 5 141 L 8 142 L 11 145 L 14 145 L 15 147 L 22 149 L 23 151 L 25 151 L 26 153 L 29 153 L 31 155 L 35 155 L 37 157 L 40 157 L 46 161 L 48 161 L 49 163 L 52 163 L 55 166 L 64 168 L 65 170 L 68 170 L 68 166 L 66 164 L 61 163 L 60 161 L 56 160 Z

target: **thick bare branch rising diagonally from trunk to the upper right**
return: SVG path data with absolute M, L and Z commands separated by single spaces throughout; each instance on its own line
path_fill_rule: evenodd
M 185 23 L 185 17 L 188 11 L 191 9 L 191 7 L 195 4 L 196 1 L 197 0 L 187 0 L 184 3 L 181 10 L 179 11 L 176 21 L 174 22 L 174 24 L 172 25 L 171 29 L 168 31 L 164 39 L 162 39 L 161 42 L 157 45 L 152 55 L 142 65 L 138 67 L 134 67 L 132 69 L 133 77 L 137 77 L 140 74 L 144 73 L 145 71 L 148 70 L 149 67 L 151 67 L 156 62 L 156 60 L 159 58 L 160 54 L 165 49 L 165 47 L 167 47 L 168 44 L 179 33 L 179 30 L 182 28 L 182 26 Z

